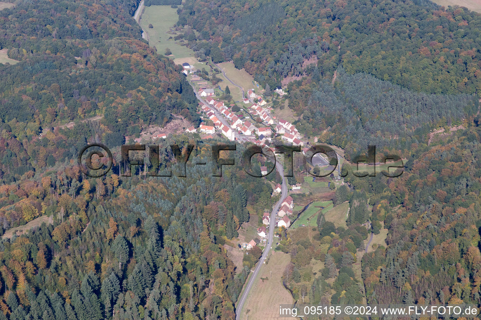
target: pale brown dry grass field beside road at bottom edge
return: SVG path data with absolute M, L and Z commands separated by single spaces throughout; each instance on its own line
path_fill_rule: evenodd
M 292 304 L 289 291 L 282 286 L 282 274 L 291 261 L 289 254 L 272 252 L 269 263 L 262 266 L 247 300 L 242 308 L 241 319 L 279 319 L 279 304 Z M 272 278 L 271 278 L 272 272 Z M 264 281 L 261 278 L 265 279 Z M 249 280 L 248 280 L 249 281 Z

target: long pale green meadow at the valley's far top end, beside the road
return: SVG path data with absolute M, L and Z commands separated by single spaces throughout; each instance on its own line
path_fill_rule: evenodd
M 174 41 L 173 38 L 176 34 L 167 33 L 177 21 L 177 9 L 170 6 L 149 6 L 145 7 L 144 13 L 142 13 L 140 26 L 149 35 L 149 45 L 155 46 L 157 53 L 164 54 L 165 49 L 169 48 L 172 51 L 170 59 L 193 57 L 194 51 L 182 46 L 180 40 Z M 149 24 L 152 24 L 152 29 L 149 29 Z M 169 37 L 172 39 L 168 40 Z

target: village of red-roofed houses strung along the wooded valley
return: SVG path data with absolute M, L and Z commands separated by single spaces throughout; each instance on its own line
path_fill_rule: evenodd
M 274 152 L 273 140 L 279 138 L 284 143 L 287 142 L 293 146 L 301 146 L 302 154 L 306 154 L 309 150 L 309 142 L 303 141 L 303 136 L 296 129 L 295 125 L 285 119 L 278 119 L 273 115 L 273 108 L 268 103 L 268 97 L 256 93 L 255 89 L 249 89 L 241 101 L 228 103 L 222 96 L 225 94 L 220 87 L 204 81 L 197 71 L 194 70 L 188 62 L 182 64 L 183 73 L 192 85 L 197 98 L 199 100 L 198 113 L 202 122 L 199 127 L 190 126 L 184 131 L 186 133 L 198 133 L 202 139 L 210 139 L 215 136 L 224 137 L 229 141 L 252 142 L 260 146 L 264 152 Z M 253 86 L 256 86 L 253 82 Z M 281 87 L 274 90 L 279 97 L 286 96 L 287 92 Z M 239 107 L 239 105 L 241 107 Z M 152 137 L 152 139 L 165 139 L 167 134 L 161 132 Z M 140 142 L 140 139 L 136 140 Z M 316 140 L 315 140 L 316 142 Z M 325 155 L 317 154 L 316 161 L 313 158 L 314 165 L 328 165 L 329 161 Z M 266 166 L 261 166 L 261 175 L 266 176 L 268 173 Z M 290 187 L 292 193 L 299 192 L 302 183 L 296 183 Z M 280 184 L 273 187 L 273 196 L 281 192 Z M 239 243 L 239 249 L 250 250 L 253 247 L 266 245 L 266 237 L 269 227 L 278 228 L 275 230 L 274 236 L 279 238 L 282 230 L 291 226 L 293 219 L 294 201 L 288 196 L 280 206 L 276 214 L 275 221 L 270 221 L 269 212 L 265 212 L 262 217 L 262 225 L 257 228 L 257 236 L 250 241 Z

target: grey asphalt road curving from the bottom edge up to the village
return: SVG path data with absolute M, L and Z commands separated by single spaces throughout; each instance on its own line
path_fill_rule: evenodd
M 274 229 L 276 228 L 276 225 L 275 225 L 276 214 L 280 208 L 280 204 L 282 203 L 282 201 L 284 201 L 284 199 L 287 198 L 287 183 L 286 183 L 286 177 L 284 177 L 284 170 L 283 170 L 282 164 L 279 162 L 276 162 L 276 169 L 278 170 L 279 175 L 282 177 L 280 200 L 274 206 L 274 209 L 272 210 L 272 213 L 269 219 L 269 234 L 267 236 L 266 247 L 264 248 L 262 257 L 259 260 L 259 262 L 257 262 L 257 265 L 255 266 L 254 272 L 249 280 L 249 283 L 245 286 L 242 296 L 238 300 L 239 304 L 237 305 L 237 308 L 236 308 L 236 320 L 241 320 L 241 312 L 242 312 L 242 307 L 244 306 L 244 302 L 247 299 L 247 296 L 249 296 L 249 292 L 252 289 L 253 283 L 257 278 L 257 275 L 259 274 L 259 271 L 262 265 L 264 264 L 264 261 L 266 261 L 266 258 L 267 258 L 267 255 L 269 254 L 270 249 L 272 248 L 272 241 L 274 238 Z

